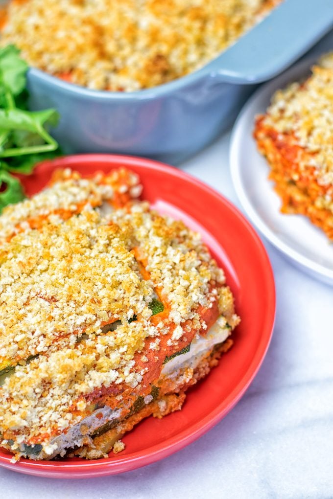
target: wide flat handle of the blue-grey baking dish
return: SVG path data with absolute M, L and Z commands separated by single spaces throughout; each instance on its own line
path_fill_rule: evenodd
M 203 70 L 229 83 L 259 83 L 281 73 L 332 27 L 333 0 L 284 0 Z

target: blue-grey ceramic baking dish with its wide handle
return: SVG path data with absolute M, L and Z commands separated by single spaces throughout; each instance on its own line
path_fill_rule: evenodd
M 30 107 L 59 111 L 53 135 L 65 153 L 126 153 L 175 165 L 232 123 L 255 84 L 332 27 L 333 0 L 285 0 L 202 69 L 155 88 L 97 91 L 30 68 Z

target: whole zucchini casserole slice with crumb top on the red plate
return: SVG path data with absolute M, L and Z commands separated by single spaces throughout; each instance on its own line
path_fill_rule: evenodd
M 0 216 L 0 446 L 13 460 L 123 450 L 232 345 L 223 271 L 140 192 L 125 169 L 65 170 Z

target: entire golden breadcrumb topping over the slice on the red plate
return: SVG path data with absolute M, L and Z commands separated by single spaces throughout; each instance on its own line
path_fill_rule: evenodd
M 70 189 L 66 198 L 67 177 L 91 206 L 83 179 L 58 175 L 48 192 L 62 193 L 61 206 L 76 199 Z M 13 226 L 25 223 L 24 214 L 38 219 L 59 206 L 45 199 L 40 210 L 38 196 L 25 211 L 26 202 L 16 205 L 16 219 L 11 209 Z M 52 455 L 52 438 L 97 407 L 128 410 L 148 396 L 165 358 L 205 334 L 207 322 L 219 314 L 231 328 L 239 321 L 223 271 L 199 235 L 126 199 L 106 215 L 97 207 L 24 225 L 0 246 L 0 370 L 16 366 L 0 387 L 0 434 L 14 452 L 38 444 Z M 163 307 L 152 315 L 156 297 Z

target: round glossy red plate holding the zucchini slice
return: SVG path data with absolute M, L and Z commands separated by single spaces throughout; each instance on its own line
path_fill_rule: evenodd
M 241 325 L 234 346 L 218 367 L 188 392 L 181 411 L 159 420 L 150 417 L 128 433 L 126 449 L 108 459 L 58 462 L 20 459 L 0 451 L 0 466 L 52 478 L 113 475 L 145 466 L 179 451 L 218 423 L 240 400 L 266 354 L 274 325 L 275 287 L 271 264 L 259 237 L 226 199 L 205 184 L 175 168 L 147 159 L 89 154 L 68 156 L 40 164 L 23 178 L 27 194 L 39 191 L 54 168 L 71 167 L 83 175 L 127 166 L 140 175 L 143 198 L 161 213 L 182 219 L 201 233 L 236 300 Z

